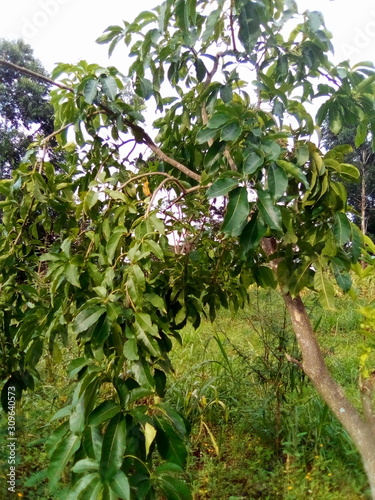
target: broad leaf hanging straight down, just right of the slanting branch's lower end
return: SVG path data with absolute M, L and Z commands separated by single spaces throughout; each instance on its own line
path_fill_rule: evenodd
M 221 230 L 231 236 L 238 236 L 249 215 L 246 187 L 238 187 L 229 193 L 229 203 Z

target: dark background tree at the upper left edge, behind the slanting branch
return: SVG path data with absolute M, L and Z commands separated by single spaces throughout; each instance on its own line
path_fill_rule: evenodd
M 22 40 L 0 40 L 0 57 L 47 75 Z M 8 66 L 0 67 L 0 178 L 9 177 L 38 134 L 53 132 L 53 108 L 48 102 L 50 85 Z

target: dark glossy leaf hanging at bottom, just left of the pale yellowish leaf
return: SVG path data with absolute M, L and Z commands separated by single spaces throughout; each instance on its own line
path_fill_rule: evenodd
M 126 445 L 126 424 L 122 414 L 113 417 L 104 433 L 99 473 L 103 481 L 110 482 L 122 465 Z

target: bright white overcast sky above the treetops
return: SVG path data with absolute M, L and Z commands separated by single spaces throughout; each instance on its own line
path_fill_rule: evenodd
M 110 24 L 132 20 L 158 0 L 11 0 L 1 8 L 0 37 L 23 38 L 36 57 L 51 71 L 56 62 L 80 59 L 123 67 L 125 52 L 115 51 L 107 60 L 107 46 L 95 39 Z M 300 11 L 323 12 L 327 28 L 334 35 L 336 62 L 375 61 L 374 0 L 297 0 Z M 4 5 L 5 4 L 5 5 Z

